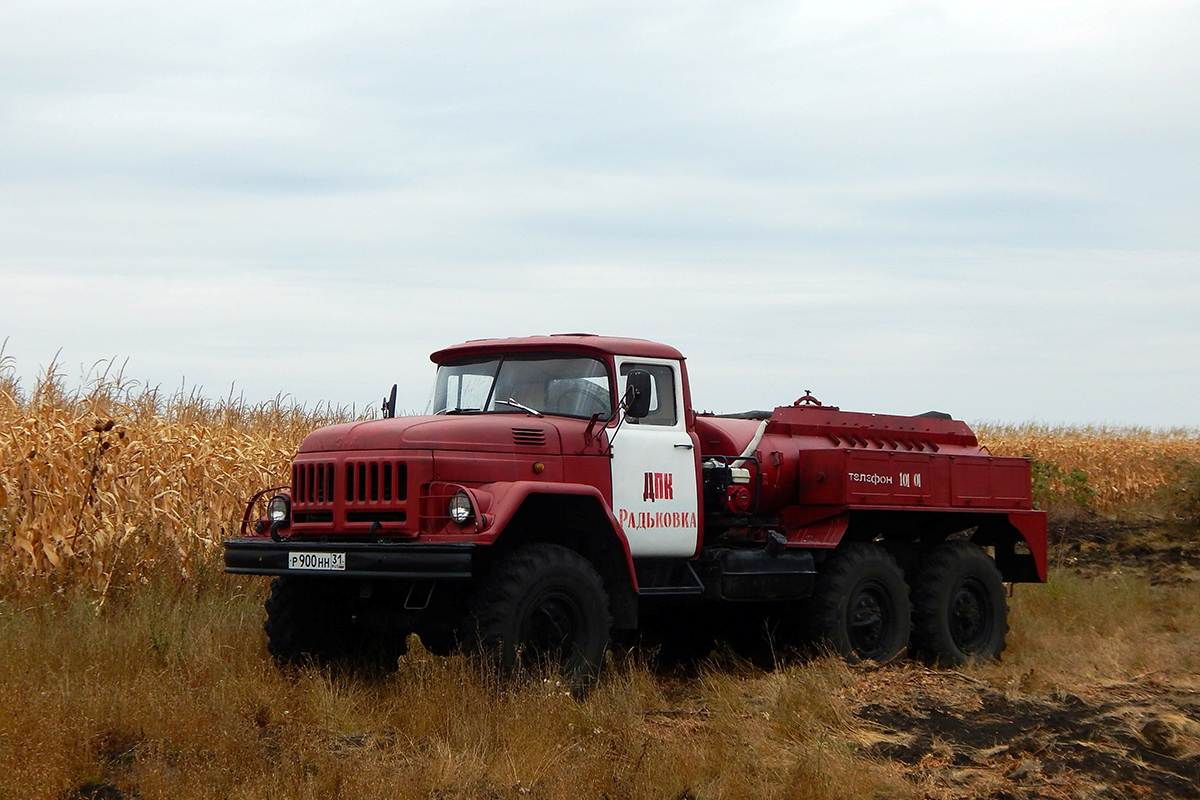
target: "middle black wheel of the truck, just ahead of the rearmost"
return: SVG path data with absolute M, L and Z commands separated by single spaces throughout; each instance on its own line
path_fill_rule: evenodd
M 908 646 L 908 585 L 900 565 L 878 545 L 848 542 L 832 553 L 802 613 L 806 638 L 851 663 L 887 663 Z

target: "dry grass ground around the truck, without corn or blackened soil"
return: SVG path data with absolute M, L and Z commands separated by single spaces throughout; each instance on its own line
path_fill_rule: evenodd
M 762 672 L 724 654 L 698 675 L 664 675 L 616 657 L 583 702 L 553 680 L 497 681 L 419 646 L 382 679 L 280 673 L 265 657 L 262 589 L 212 576 L 187 590 L 152 583 L 100 613 L 82 595 L 0 603 L 0 796 L 988 796 L 976 792 L 1000 790 L 1015 769 L 989 742 L 967 747 L 947 730 L 916 764 L 887 757 L 931 724 L 914 709 L 942 704 L 954 718 L 955 704 L 966 716 L 997 697 L 1028 705 L 1069 693 L 1085 699 L 1060 704 L 1060 716 L 1082 715 L 1096 708 L 1086 698 L 1123 681 L 1153 676 L 1194 694 L 1200 676 L 1194 588 L 1130 576 L 1020 587 L 998 664 L 937 673 L 818 658 Z M 896 730 L 871 724 L 872 714 L 887 721 L 883 706 L 914 716 Z M 1200 765 L 1187 722 L 1200 709 L 1163 697 L 1130 708 L 1098 716 L 1135 740 L 1153 721 L 1171 724 L 1176 771 Z M 955 787 L 938 758 L 997 769 Z M 1128 772 L 1112 782 L 1128 796 L 1189 796 L 1164 794 L 1145 764 Z M 1082 768 L 1056 780 L 1058 794 L 1038 796 L 1093 796 Z

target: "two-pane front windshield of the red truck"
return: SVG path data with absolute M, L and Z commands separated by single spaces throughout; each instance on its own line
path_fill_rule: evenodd
M 608 369 L 599 359 L 492 356 L 438 367 L 428 414 L 554 414 L 612 417 Z

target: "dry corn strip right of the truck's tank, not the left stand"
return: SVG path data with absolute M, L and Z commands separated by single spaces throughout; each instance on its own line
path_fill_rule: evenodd
M 1050 494 L 1069 500 L 1070 474 L 1081 470 L 1097 511 L 1151 504 L 1175 479 L 1180 462 L 1200 463 L 1200 429 L 979 425 L 979 443 L 997 456 L 1027 456 L 1048 465 Z M 1058 475 L 1055 475 L 1057 473 Z

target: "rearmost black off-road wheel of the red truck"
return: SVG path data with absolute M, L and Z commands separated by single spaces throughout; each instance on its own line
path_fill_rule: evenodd
M 912 584 L 912 645 L 944 666 L 995 661 L 1008 634 L 1008 600 L 996 563 L 972 542 L 943 542 Z

